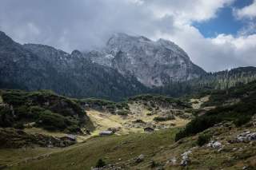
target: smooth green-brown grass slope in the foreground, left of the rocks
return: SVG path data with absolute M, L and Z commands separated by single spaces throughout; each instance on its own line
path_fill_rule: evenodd
M 30 160 L 10 169 L 90 169 L 98 159 L 111 164 L 133 159 L 140 154 L 144 154 L 146 161 L 150 161 L 150 156 L 156 154 L 161 147 L 174 143 L 175 132 L 177 128 L 153 133 L 94 137 L 42 160 Z M 2 155 L 2 152 L 0 154 Z

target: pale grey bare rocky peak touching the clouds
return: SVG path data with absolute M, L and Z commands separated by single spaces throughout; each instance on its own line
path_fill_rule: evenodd
M 188 81 L 206 74 L 190 61 L 183 49 L 164 39 L 153 42 L 142 36 L 114 34 L 103 49 L 86 53 L 86 56 L 124 76 L 134 75 L 147 87 Z

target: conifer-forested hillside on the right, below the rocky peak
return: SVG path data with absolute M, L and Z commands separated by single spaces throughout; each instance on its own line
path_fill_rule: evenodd
M 173 82 L 169 85 L 152 89 L 152 93 L 162 93 L 171 97 L 182 97 L 212 89 L 229 89 L 237 85 L 247 84 L 256 80 L 255 67 L 241 67 L 205 76 L 190 81 Z

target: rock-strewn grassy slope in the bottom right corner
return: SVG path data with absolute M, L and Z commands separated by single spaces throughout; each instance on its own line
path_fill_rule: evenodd
M 222 150 L 206 147 L 198 147 L 196 144 L 198 135 L 184 138 L 171 145 L 169 148 L 158 152 L 152 159 L 160 164 L 165 164 L 166 169 L 182 169 L 179 165 L 181 162 L 181 154 L 188 150 L 192 151 L 190 155 L 190 163 L 187 169 L 223 169 L 234 170 L 250 167 L 256 167 L 256 143 L 234 143 L 229 144 L 228 140 L 234 140 L 238 134 L 250 131 L 255 132 L 255 127 L 235 128 L 230 127 L 214 127 L 207 129 L 204 133 L 210 133 L 213 136 L 211 140 L 218 140 L 222 143 Z M 166 164 L 166 160 L 177 159 L 177 165 Z

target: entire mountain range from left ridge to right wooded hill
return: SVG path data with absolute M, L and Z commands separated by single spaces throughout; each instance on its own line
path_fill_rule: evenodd
M 0 89 L 51 89 L 67 97 L 121 101 L 141 93 L 181 97 L 256 79 L 256 68 L 206 73 L 163 39 L 114 34 L 102 49 L 66 53 L 48 45 L 14 42 L 0 32 Z

